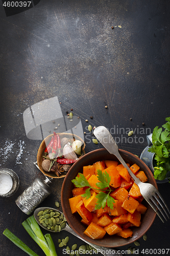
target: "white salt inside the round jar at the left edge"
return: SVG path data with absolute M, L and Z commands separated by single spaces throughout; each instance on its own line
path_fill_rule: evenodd
M 12 178 L 9 174 L 0 174 L 0 195 L 7 194 L 13 186 Z

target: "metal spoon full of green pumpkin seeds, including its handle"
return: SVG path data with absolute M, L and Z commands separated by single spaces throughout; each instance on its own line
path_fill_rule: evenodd
M 60 232 L 65 230 L 77 238 L 81 239 L 85 243 L 89 244 L 95 250 L 103 254 L 104 256 L 123 256 L 122 253 L 118 253 L 114 248 L 107 248 L 103 246 L 98 246 L 87 242 L 85 239 L 80 237 L 72 228 L 67 224 L 67 220 L 58 209 L 50 208 L 50 207 L 39 207 L 34 211 L 34 218 L 37 223 L 47 231 L 51 232 Z

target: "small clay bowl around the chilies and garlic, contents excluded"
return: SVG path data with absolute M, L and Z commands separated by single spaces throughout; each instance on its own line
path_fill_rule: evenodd
M 85 143 L 84 141 L 77 135 L 75 134 L 71 134 L 71 133 L 57 133 L 60 136 L 60 139 L 66 137 L 68 138 L 69 142 L 73 142 L 75 140 L 80 140 L 82 142 L 82 154 L 81 156 L 78 156 L 78 158 L 82 157 L 85 155 Z M 38 153 L 37 153 L 37 164 L 39 169 L 41 170 L 41 172 L 47 176 L 47 177 L 51 177 L 51 178 L 63 178 L 66 176 L 66 174 L 64 175 L 60 175 L 59 177 L 57 177 L 53 172 L 45 172 L 45 170 L 42 169 L 42 160 L 43 160 L 43 156 L 44 156 L 44 150 L 46 148 L 46 145 L 48 145 L 48 143 L 50 143 L 51 137 L 53 136 L 53 134 L 48 135 L 40 144 L 39 149 L 38 149 Z

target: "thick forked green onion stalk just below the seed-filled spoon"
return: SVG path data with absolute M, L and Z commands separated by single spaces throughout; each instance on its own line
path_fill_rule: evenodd
M 51 234 L 45 234 L 45 237 L 43 236 L 34 216 L 31 216 L 26 221 L 22 222 L 22 226 L 30 234 L 32 239 L 40 246 L 46 256 L 57 256 Z

